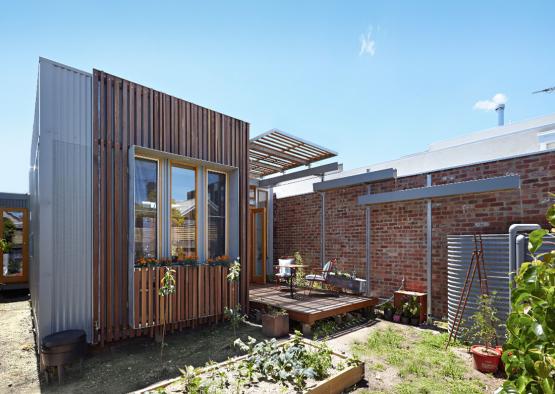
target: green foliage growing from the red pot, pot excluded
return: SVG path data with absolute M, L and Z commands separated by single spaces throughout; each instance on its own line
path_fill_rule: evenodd
M 482 294 L 478 297 L 478 309 L 470 317 L 472 326 L 470 335 L 486 349 L 494 346 L 497 338 L 496 327 L 500 320 L 497 317 L 497 308 L 494 305 L 495 295 Z

